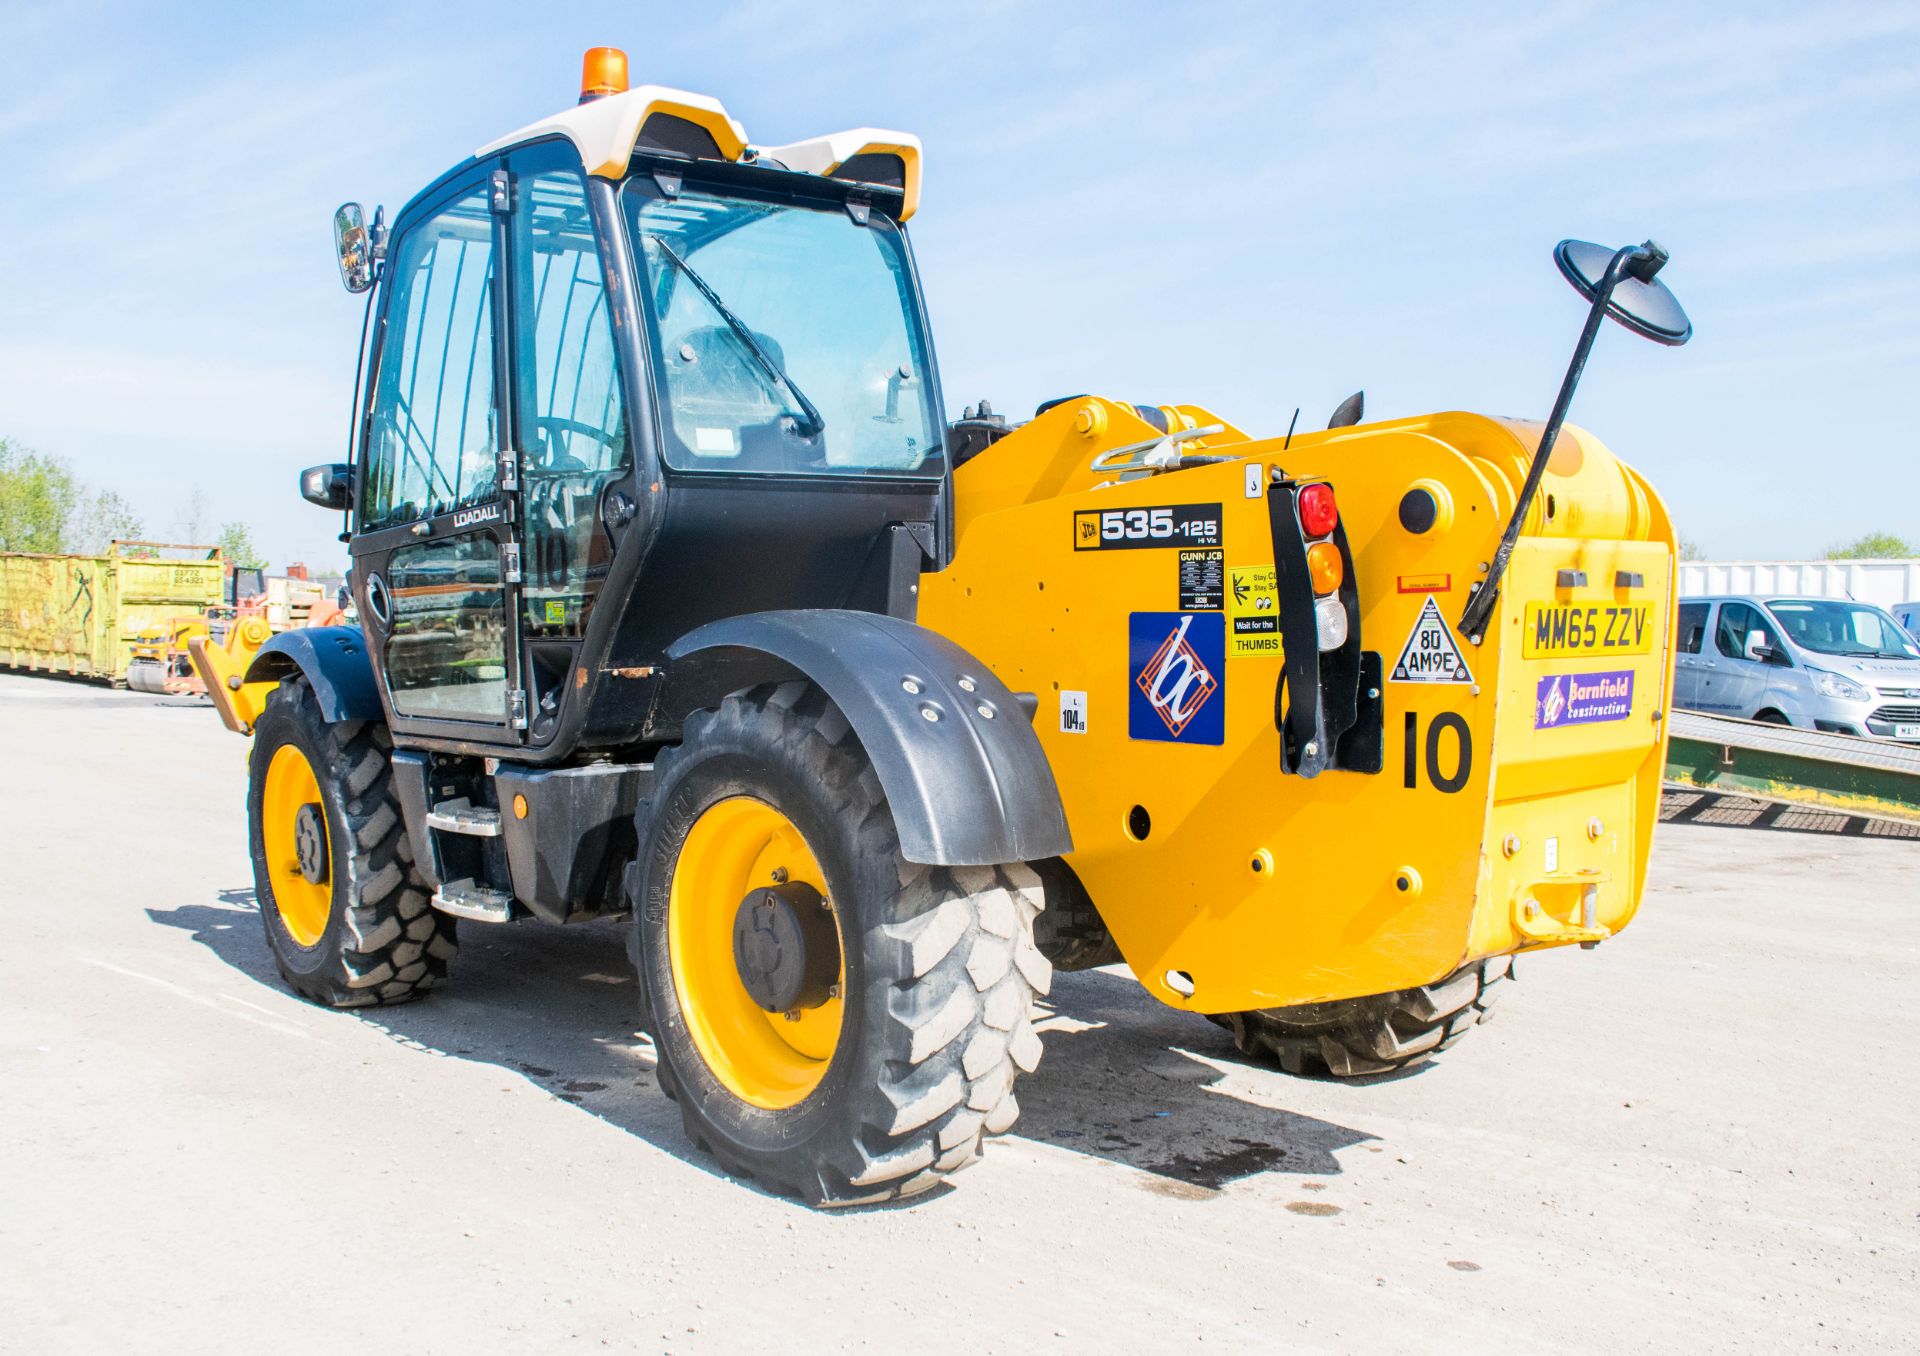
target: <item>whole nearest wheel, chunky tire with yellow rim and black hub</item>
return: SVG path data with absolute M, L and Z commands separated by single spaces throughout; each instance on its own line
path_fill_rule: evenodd
M 812 1204 L 910 1197 L 1020 1114 L 1039 878 L 900 857 L 879 778 L 806 684 L 689 716 L 630 876 L 643 1022 L 687 1135 Z

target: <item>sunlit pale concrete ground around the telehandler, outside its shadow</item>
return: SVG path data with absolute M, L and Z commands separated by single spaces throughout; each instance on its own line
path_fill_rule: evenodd
M 1375 1085 L 1062 976 L 1014 1135 L 814 1214 L 712 1170 L 618 928 L 349 1016 L 242 739 L 0 676 L 0 1350 L 1859 1350 L 1920 1323 L 1920 843 L 1667 826 L 1640 922 Z

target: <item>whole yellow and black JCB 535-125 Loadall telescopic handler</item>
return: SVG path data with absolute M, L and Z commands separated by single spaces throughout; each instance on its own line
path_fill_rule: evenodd
M 851 1204 L 1014 1124 L 1054 966 L 1367 1074 L 1632 918 L 1674 534 L 1561 421 L 1603 315 L 1686 340 L 1657 246 L 1559 246 L 1592 309 L 1546 426 L 948 426 L 916 138 L 755 146 L 586 71 L 334 219 L 365 382 L 303 494 L 361 626 L 198 649 L 294 989 L 397 1003 L 455 920 L 628 916 L 689 1135 Z

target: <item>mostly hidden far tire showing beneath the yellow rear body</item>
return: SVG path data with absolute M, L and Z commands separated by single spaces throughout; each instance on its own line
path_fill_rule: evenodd
M 1413 1068 L 1492 1016 L 1494 989 L 1513 978 L 1513 956 L 1475 960 L 1438 983 L 1340 1003 L 1227 1012 L 1242 1054 L 1288 1074 L 1361 1078 Z

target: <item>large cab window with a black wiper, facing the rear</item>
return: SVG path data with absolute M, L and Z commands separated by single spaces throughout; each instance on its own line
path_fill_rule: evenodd
M 668 465 L 937 476 L 945 440 L 899 227 L 841 206 L 626 190 Z

